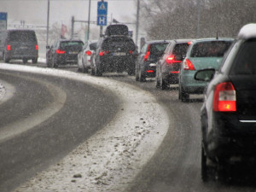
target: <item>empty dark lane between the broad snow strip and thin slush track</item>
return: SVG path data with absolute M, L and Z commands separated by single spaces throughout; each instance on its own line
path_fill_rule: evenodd
M 15 189 L 36 172 L 61 160 L 79 143 L 83 143 L 108 123 L 119 108 L 119 100 L 108 90 L 100 90 L 69 79 L 31 73 L 20 74 L 58 85 L 66 92 L 67 102 L 58 113 L 40 125 L 0 143 L 0 191 Z M 26 90 L 29 91 L 28 94 L 32 94 L 38 84 L 30 86 L 31 89 Z M 11 100 L 12 98 L 10 102 Z M 39 100 L 49 101 L 50 96 L 38 97 L 38 102 Z M 20 98 L 20 102 L 26 106 L 32 101 Z

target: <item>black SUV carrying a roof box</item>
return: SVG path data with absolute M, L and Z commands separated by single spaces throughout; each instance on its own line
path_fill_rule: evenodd
M 120 26 L 108 26 L 106 35 L 98 41 L 90 62 L 92 75 L 100 76 L 105 72 L 124 71 L 129 75 L 134 74 L 136 45 L 128 35 L 128 28 L 124 30 Z

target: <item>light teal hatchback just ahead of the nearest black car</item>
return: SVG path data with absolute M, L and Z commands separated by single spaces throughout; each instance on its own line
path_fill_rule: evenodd
M 218 69 L 233 41 L 233 38 L 217 37 L 195 39 L 191 42 L 178 74 L 179 100 L 188 102 L 189 94 L 203 93 L 207 83 L 194 79 L 196 71 L 208 67 Z

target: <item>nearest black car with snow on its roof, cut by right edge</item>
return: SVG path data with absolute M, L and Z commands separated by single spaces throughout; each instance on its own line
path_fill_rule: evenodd
M 201 108 L 201 177 L 215 170 L 227 177 L 232 165 L 255 165 L 256 24 L 243 26 L 221 67 L 199 70 L 208 82 Z

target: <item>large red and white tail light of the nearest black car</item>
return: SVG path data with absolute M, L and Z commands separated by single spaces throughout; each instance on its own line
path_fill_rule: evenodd
M 236 111 L 236 90 L 231 82 L 216 85 L 213 96 L 213 111 Z

